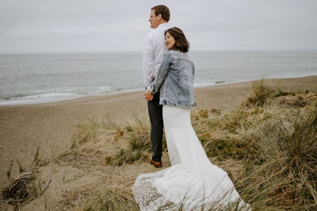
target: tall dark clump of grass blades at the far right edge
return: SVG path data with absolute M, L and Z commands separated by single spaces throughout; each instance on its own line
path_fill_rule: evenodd
M 306 115 L 298 111 L 294 132 L 285 142 L 288 157 L 285 171 L 292 172 L 290 176 L 298 190 L 296 196 L 317 204 L 317 101 Z

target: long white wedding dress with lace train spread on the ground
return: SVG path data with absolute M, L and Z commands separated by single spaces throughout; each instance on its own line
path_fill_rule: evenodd
M 133 194 L 143 210 L 251 210 L 228 174 L 210 163 L 191 126 L 191 109 L 163 106 L 163 120 L 171 166 L 137 177 Z M 239 210 L 238 209 L 238 210 Z

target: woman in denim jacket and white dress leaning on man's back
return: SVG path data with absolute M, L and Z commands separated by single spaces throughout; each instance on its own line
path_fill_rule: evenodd
M 137 177 L 133 193 L 141 210 L 183 210 L 202 206 L 248 210 L 228 174 L 210 163 L 191 126 L 195 67 L 188 54 L 189 43 L 179 28 L 165 31 L 165 53 L 157 77 L 149 90 L 160 89 L 163 121 L 171 167 Z M 151 93 L 147 92 L 148 97 Z

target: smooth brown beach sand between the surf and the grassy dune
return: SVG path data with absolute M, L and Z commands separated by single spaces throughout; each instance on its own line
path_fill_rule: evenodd
M 281 86 L 283 90 L 317 90 L 317 75 L 267 81 L 273 86 Z M 196 109 L 233 109 L 246 99 L 251 87 L 252 82 L 242 82 L 195 88 Z M 9 183 L 7 170 L 11 163 L 13 178 L 18 174 L 16 159 L 23 166 L 28 166 L 37 146 L 40 146 L 40 154 L 47 157 L 51 146 L 61 147 L 67 143 L 78 119 L 106 114 L 120 121 L 132 112 L 147 115 L 147 101 L 143 93 L 127 92 L 52 103 L 0 106 L 0 188 Z

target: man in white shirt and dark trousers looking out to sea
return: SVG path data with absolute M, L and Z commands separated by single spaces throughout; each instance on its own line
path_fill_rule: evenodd
M 154 30 L 146 35 L 143 49 L 143 79 L 146 85 L 146 92 L 157 76 L 157 71 L 163 61 L 164 54 L 168 52 L 165 45 L 164 31 L 171 28 L 171 25 L 168 23 L 169 20 L 170 10 L 166 6 L 158 5 L 151 8 L 149 22 L 151 23 L 151 28 L 154 28 Z M 151 97 L 147 97 L 144 94 L 144 97 L 148 100 L 147 108 L 151 122 L 153 154 L 150 163 L 156 168 L 162 167 L 163 106 L 159 105 L 159 96 L 159 92 L 152 94 Z

